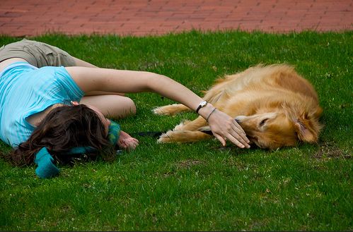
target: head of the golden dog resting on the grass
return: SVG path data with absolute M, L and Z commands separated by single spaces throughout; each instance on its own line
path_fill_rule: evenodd
M 281 110 L 270 113 L 237 116 L 236 121 L 245 130 L 250 142 L 260 148 L 277 149 L 295 146 L 299 141 L 317 142 L 321 112 L 320 107 L 308 114 L 283 105 Z

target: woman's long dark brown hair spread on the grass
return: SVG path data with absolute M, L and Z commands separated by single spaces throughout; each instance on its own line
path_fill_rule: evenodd
M 70 155 L 63 153 L 73 147 L 86 146 L 97 149 L 103 159 L 111 160 L 115 156 L 96 111 L 83 104 L 59 106 L 45 116 L 30 138 L 13 150 L 7 159 L 16 166 L 32 164 L 35 154 L 47 147 L 54 159 L 67 161 Z M 96 157 L 98 153 L 89 155 Z

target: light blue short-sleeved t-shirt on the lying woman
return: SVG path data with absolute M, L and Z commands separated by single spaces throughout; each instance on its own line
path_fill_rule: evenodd
M 35 127 L 26 120 L 53 104 L 81 100 L 84 92 L 64 67 L 12 63 L 0 73 L 0 138 L 18 147 Z

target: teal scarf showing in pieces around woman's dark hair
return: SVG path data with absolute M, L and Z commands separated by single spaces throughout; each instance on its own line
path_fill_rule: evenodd
M 112 145 L 116 145 L 117 140 L 119 140 L 119 136 L 120 125 L 112 121 L 110 123 L 108 132 L 109 142 Z M 93 147 L 73 147 L 64 154 L 84 154 L 86 152 L 95 151 L 96 149 L 94 149 Z M 37 164 L 37 169 L 35 169 L 35 173 L 37 174 L 37 176 L 39 176 L 40 178 L 51 178 L 57 176 L 60 170 L 57 168 L 57 166 L 52 163 L 53 161 L 54 159 L 48 152 L 47 147 L 43 147 L 42 149 L 40 149 L 40 151 L 35 154 L 35 164 Z

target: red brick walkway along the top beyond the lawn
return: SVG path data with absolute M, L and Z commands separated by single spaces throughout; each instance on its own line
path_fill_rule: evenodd
M 0 34 L 353 30 L 353 0 L 0 0 Z

